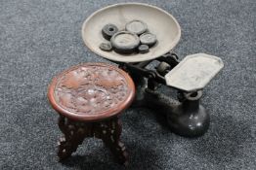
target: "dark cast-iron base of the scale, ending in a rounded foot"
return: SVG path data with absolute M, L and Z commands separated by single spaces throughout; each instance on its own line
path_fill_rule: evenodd
M 139 95 L 138 95 L 139 94 Z M 199 98 L 185 99 L 182 102 L 147 87 L 137 88 L 137 97 L 132 107 L 145 107 L 167 119 L 170 130 L 184 137 L 199 137 L 205 134 L 210 125 L 210 116 Z

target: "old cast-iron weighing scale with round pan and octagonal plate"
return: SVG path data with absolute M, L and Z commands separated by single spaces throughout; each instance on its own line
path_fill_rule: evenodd
M 157 46 L 148 53 L 125 55 L 99 49 L 99 45 L 106 41 L 101 31 L 104 25 L 113 23 L 123 29 L 123 25 L 133 19 L 143 20 L 149 25 L 150 32 L 157 37 Z M 181 37 L 180 25 L 174 17 L 147 4 L 116 4 L 88 17 L 83 23 L 82 37 L 91 51 L 118 64 L 130 74 L 137 89 L 133 106 L 163 111 L 176 134 L 195 137 L 206 132 L 210 117 L 199 100 L 202 89 L 224 64 L 219 57 L 205 53 L 188 55 L 179 61 L 177 54 L 172 52 Z M 159 62 L 158 66 L 147 68 L 153 61 Z M 160 93 L 157 90 L 159 85 L 177 90 L 177 99 Z

